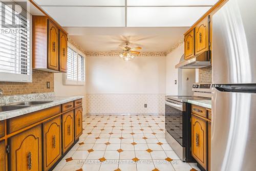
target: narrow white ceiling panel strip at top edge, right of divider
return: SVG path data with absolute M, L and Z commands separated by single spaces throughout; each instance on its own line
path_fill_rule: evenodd
M 212 6 L 218 0 L 129 0 L 128 6 Z

